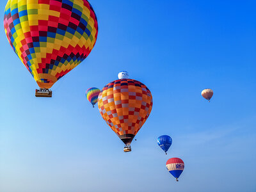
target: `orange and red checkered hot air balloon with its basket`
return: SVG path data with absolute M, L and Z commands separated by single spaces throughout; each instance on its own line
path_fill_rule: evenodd
M 145 84 L 133 79 L 113 81 L 101 90 L 100 115 L 131 151 L 131 142 L 152 110 L 153 100 Z

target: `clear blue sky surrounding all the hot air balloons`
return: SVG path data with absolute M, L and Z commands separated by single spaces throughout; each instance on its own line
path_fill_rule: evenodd
M 0 28 L 0 191 L 256 191 L 256 1 L 90 3 L 95 47 L 51 99 L 35 97 Z M 127 154 L 85 97 L 120 70 L 154 100 Z M 204 88 L 214 90 L 210 103 Z M 161 134 L 173 138 L 168 156 Z M 165 168 L 170 157 L 185 163 L 178 183 Z

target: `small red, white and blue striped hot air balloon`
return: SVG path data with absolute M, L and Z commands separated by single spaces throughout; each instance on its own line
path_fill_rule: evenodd
M 177 157 L 171 158 L 166 162 L 166 168 L 179 181 L 178 178 L 184 170 L 184 162 Z

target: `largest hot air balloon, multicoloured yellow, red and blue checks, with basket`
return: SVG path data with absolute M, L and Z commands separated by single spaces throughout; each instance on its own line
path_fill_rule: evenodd
M 8 0 L 4 29 L 13 51 L 40 87 L 36 96 L 44 97 L 90 54 L 98 22 L 87 0 Z

